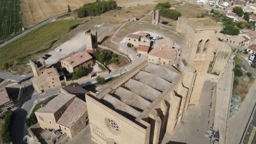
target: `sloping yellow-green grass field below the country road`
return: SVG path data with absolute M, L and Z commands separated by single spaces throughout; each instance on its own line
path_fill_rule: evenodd
M 4 65 L 20 65 L 27 63 L 33 54 L 41 53 L 52 47 L 54 42 L 70 31 L 70 27 L 85 23 L 85 20 L 60 20 L 45 24 L 12 43 L 0 48 L 0 68 Z

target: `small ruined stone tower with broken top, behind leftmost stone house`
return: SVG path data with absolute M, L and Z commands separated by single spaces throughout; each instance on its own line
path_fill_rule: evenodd
M 34 74 L 34 77 L 37 77 L 43 74 L 44 69 L 46 68 L 45 60 L 42 58 L 40 58 L 39 61 L 36 61 L 36 62 L 29 59 L 29 64 Z

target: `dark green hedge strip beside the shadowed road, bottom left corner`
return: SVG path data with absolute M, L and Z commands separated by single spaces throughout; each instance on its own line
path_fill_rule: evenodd
M 11 142 L 11 125 L 13 120 L 13 112 L 9 110 L 5 112 L 5 116 L 6 117 L 3 123 L 3 131 L 1 135 L 3 137 L 3 142 L 9 143 Z

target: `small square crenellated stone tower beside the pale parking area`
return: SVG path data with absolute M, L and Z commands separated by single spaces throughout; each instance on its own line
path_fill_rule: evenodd
M 89 29 L 85 32 L 85 43 L 87 51 L 98 48 L 98 37 L 95 29 Z

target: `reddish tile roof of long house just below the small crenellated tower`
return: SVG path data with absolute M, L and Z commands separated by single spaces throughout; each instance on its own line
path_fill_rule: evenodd
M 83 64 L 85 61 L 92 59 L 92 57 L 85 51 L 75 53 L 61 61 L 67 61 L 72 67 Z

